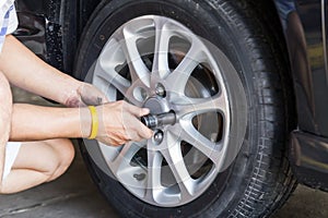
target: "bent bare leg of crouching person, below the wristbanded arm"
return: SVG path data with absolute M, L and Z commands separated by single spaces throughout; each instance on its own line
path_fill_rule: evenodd
M 11 172 L 2 182 L 2 194 L 16 193 L 61 175 L 72 162 L 69 140 L 23 143 Z

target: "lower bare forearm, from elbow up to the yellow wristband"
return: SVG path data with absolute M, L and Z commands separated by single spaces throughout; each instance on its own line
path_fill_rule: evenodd
M 51 108 L 15 104 L 10 141 L 87 137 L 91 122 L 87 108 Z

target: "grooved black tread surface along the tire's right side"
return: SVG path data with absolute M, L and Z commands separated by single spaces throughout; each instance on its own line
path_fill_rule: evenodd
M 293 125 L 289 114 L 293 109 L 288 108 L 285 104 L 292 100 L 291 94 L 286 93 L 289 82 L 285 80 L 290 80 L 285 76 L 286 61 L 281 58 L 281 53 L 285 50 L 281 50 L 283 48 L 279 43 L 281 36 L 270 34 L 270 31 L 277 29 L 274 27 L 268 29 L 270 24 L 261 20 L 266 15 L 259 11 L 265 9 L 265 5 L 258 8 L 247 0 L 216 1 L 215 5 L 226 11 L 233 25 L 245 37 L 256 83 L 254 85 L 260 96 L 259 141 L 270 142 L 269 146 L 268 143 L 259 142 L 250 182 L 242 194 L 243 199 L 230 217 L 268 217 L 283 205 L 296 185 L 286 149 L 288 132 Z M 262 13 L 270 13 L 269 10 L 263 11 Z M 288 125 L 281 129 L 285 120 Z M 279 142 L 277 138 L 280 138 Z M 280 149 L 273 150 L 272 143 L 280 146 Z

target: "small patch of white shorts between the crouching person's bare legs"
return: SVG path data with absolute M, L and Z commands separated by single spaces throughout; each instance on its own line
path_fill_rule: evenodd
M 12 168 L 12 166 L 13 166 L 13 164 L 14 164 L 17 155 L 19 155 L 21 146 L 22 146 L 22 143 L 17 143 L 17 142 L 7 143 L 2 181 L 10 173 L 11 168 Z

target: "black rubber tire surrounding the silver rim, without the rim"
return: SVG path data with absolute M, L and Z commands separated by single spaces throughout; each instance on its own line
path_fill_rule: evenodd
M 155 14 L 185 24 L 224 51 L 247 95 L 247 132 L 236 160 L 204 194 L 183 206 L 162 208 L 134 197 L 97 167 L 81 142 L 92 178 L 122 217 L 267 217 L 293 191 L 286 158 L 293 125 L 288 68 L 279 34 L 261 19 L 266 12 L 246 0 L 105 0 L 96 9 L 81 39 L 77 77 L 85 77 L 115 29 Z

